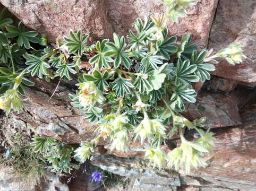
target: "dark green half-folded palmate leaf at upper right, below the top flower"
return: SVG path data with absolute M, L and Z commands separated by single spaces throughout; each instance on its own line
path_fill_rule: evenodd
M 164 59 L 169 60 L 170 54 L 174 54 L 178 50 L 178 48 L 173 45 L 174 42 L 176 42 L 176 40 L 177 40 L 176 36 L 172 36 L 165 41 L 158 40 L 157 41 L 157 50 L 158 50 L 157 55 L 162 56 Z

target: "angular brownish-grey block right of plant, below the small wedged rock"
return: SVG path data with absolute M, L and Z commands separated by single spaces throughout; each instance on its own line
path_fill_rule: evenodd
M 234 93 L 211 93 L 202 91 L 198 94 L 197 102 L 190 103 L 184 115 L 191 119 L 207 118 L 207 127 L 227 127 L 241 124 Z

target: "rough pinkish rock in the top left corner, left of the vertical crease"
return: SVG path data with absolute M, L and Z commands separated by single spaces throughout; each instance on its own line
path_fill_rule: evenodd
M 67 34 L 70 29 L 82 29 L 91 37 L 112 37 L 112 27 L 105 14 L 104 1 L 8 1 L 1 3 L 16 15 L 25 25 L 47 34 L 55 42 L 58 36 Z

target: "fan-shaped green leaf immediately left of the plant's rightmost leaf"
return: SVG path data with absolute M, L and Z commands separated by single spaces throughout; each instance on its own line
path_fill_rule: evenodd
M 199 77 L 194 75 L 197 70 L 197 65 L 190 65 L 189 60 L 182 62 L 181 59 L 177 60 L 175 67 L 175 85 L 187 85 L 189 82 L 198 82 Z

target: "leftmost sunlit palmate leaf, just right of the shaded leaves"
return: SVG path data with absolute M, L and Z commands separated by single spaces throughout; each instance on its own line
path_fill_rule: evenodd
M 24 58 L 27 60 L 25 64 L 29 65 L 28 71 L 31 72 L 31 76 L 37 74 L 38 77 L 42 78 L 44 75 L 49 75 L 50 65 L 38 56 L 25 54 Z

